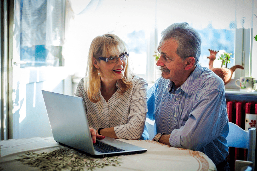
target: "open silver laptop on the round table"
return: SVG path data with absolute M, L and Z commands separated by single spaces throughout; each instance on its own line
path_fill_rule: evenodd
M 42 93 L 53 138 L 58 143 L 97 158 L 142 153 L 147 150 L 107 136 L 93 144 L 83 98 L 45 90 Z

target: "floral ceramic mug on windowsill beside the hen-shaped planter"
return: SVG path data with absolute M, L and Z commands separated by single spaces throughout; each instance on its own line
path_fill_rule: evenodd
M 240 82 L 240 86 L 237 84 L 237 82 Z M 249 91 L 255 90 L 257 80 L 254 80 L 252 77 L 240 77 L 240 79 L 237 79 L 235 84 L 240 89 L 246 89 Z

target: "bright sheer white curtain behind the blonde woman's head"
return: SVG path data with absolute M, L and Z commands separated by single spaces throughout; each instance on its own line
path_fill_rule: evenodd
M 69 0 L 69 3 L 73 13 L 68 13 L 70 22 L 65 32 L 63 55 L 69 60 L 66 63 L 70 68 L 75 68 L 75 76 L 85 74 L 93 38 L 108 32 L 117 34 L 129 45 L 134 72 L 145 75 L 147 40 L 155 23 L 155 0 L 92 0 L 84 1 L 84 8 L 78 0 Z

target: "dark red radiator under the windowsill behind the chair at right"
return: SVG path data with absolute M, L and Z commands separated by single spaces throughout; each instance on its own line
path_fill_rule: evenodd
M 255 101 L 228 101 L 228 121 L 235 123 L 245 130 L 245 114 L 257 114 L 257 103 Z M 229 148 L 228 162 L 231 170 L 234 170 L 235 160 L 247 160 L 247 149 Z

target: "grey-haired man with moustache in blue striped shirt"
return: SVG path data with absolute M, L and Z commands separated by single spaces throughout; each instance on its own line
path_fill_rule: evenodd
M 172 24 L 157 50 L 162 77 L 147 92 L 147 117 L 156 122 L 153 140 L 201 151 L 218 170 L 230 170 L 224 82 L 198 64 L 200 35 L 188 23 Z

